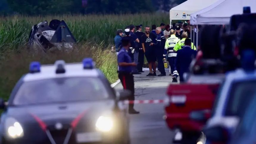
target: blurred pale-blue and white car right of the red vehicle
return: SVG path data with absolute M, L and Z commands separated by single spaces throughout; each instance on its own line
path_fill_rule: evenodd
M 249 102 L 256 95 L 255 87 L 256 71 L 238 69 L 227 73 L 213 106 L 212 117 L 203 129 L 207 144 L 229 142 Z M 200 117 L 204 119 L 203 115 Z

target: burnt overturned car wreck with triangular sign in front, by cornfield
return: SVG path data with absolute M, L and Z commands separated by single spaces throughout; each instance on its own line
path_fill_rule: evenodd
M 73 51 L 76 40 L 65 21 L 42 21 L 32 27 L 28 48 L 31 51 Z

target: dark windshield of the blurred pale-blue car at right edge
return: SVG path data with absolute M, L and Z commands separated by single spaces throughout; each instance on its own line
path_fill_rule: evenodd
M 230 99 L 227 103 L 225 115 L 243 116 L 248 103 L 256 95 L 256 81 L 236 82 L 232 84 Z

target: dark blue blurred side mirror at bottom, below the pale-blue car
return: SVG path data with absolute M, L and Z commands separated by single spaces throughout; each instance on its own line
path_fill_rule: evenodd
M 228 131 L 223 126 L 213 126 L 203 129 L 207 141 L 211 143 L 226 143 L 228 141 Z

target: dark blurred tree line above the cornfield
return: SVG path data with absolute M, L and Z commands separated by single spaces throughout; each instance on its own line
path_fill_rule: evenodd
M 186 0 L 1 0 L 0 12 L 25 15 L 168 11 Z

